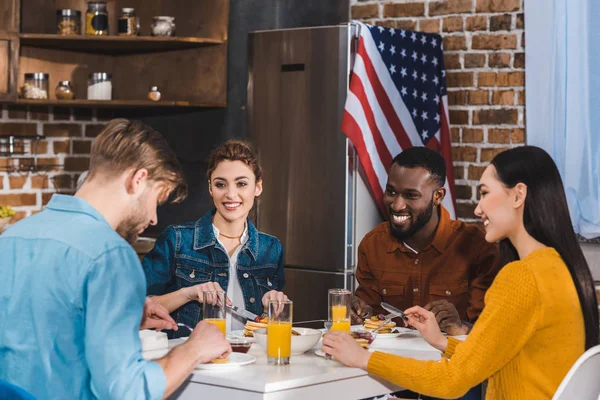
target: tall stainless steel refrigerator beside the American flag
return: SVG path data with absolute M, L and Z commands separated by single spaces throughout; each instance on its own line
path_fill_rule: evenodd
M 352 25 L 252 32 L 248 133 L 264 169 L 258 229 L 285 249 L 294 320 L 327 317 L 327 289 L 355 289 L 356 250 L 381 217 L 340 126 Z

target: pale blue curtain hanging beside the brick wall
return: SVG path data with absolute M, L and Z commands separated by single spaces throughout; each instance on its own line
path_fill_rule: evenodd
M 575 231 L 600 237 L 600 0 L 526 0 L 527 143 L 548 151 Z

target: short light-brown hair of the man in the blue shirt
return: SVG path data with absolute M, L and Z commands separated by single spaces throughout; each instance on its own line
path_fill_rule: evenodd
M 109 121 L 92 143 L 87 179 L 142 168 L 148 170 L 148 179 L 166 185 L 165 194 L 174 195 L 172 202 L 187 196 L 181 165 L 160 133 L 139 121 Z

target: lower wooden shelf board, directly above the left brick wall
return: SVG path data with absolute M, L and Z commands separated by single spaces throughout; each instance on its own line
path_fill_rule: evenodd
M 150 100 L 29 100 L 18 99 L 16 103 L 30 106 L 59 106 L 81 108 L 110 108 L 110 107 L 225 107 L 222 103 L 190 103 L 189 101 L 150 101 Z

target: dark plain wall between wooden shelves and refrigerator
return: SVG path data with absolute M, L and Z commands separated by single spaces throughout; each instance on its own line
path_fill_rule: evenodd
M 228 106 L 159 114 L 155 110 L 120 113 L 140 119 L 165 135 L 179 157 L 190 187 L 183 203 L 159 207 L 158 225 L 144 235 L 157 236 L 168 225 L 195 220 L 211 208 L 206 179 L 208 154 L 227 139 L 246 136 L 248 32 L 345 23 L 349 21 L 349 3 L 350 0 L 230 0 Z

